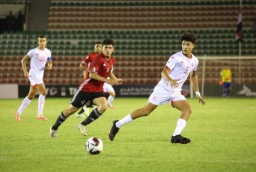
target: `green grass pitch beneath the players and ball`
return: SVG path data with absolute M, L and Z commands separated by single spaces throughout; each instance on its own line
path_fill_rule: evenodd
M 147 117 L 120 129 L 115 141 L 108 133 L 114 119 L 146 104 L 147 98 L 115 98 L 107 111 L 82 136 L 72 115 L 60 126 L 57 139 L 49 136 L 69 98 L 46 98 L 44 114 L 36 119 L 37 98 L 16 122 L 14 109 L 22 99 L 0 100 L 0 171 L 256 171 L 255 98 L 206 98 L 206 106 L 188 99 L 193 113 L 182 135 L 190 144 L 171 144 L 179 110 L 159 106 Z M 91 136 L 103 141 L 103 151 L 87 153 Z

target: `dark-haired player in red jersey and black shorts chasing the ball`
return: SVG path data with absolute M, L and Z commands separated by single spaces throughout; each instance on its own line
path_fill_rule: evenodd
M 88 101 L 92 101 L 97 108 L 92 110 L 91 114 L 82 123 L 78 124 L 77 128 L 82 135 L 87 136 L 86 126 L 92 121 L 100 117 L 107 109 L 107 100 L 103 93 L 104 82 L 114 85 L 122 84 L 123 80 L 115 77 L 111 72 L 115 59 L 111 56 L 114 52 L 114 41 L 112 39 L 104 39 L 102 42 L 103 49 L 93 61 L 89 68 L 89 74 L 78 86 L 74 97 L 70 101 L 70 106 L 63 110 L 56 120 L 56 123 L 50 129 L 51 138 L 57 138 L 57 129 L 68 116 L 77 112 L 80 107 L 83 107 Z M 110 77 L 107 79 L 107 77 Z

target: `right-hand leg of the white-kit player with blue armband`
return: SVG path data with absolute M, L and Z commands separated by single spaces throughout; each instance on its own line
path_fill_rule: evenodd
M 42 121 L 48 120 L 45 116 L 43 116 L 43 107 L 45 106 L 45 96 L 47 94 L 45 84 L 41 83 L 36 86 L 37 91 L 39 92 L 39 98 L 38 98 L 38 113 L 37 113 L 37 119 L 40 119 Z

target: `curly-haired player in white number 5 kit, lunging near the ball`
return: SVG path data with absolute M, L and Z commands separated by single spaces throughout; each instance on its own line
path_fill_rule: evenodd
M 171 136 L 172 143 L 187 144 L 190 139 L 181 136 L 181 132 L 186 126 L 188 118 L 192 112 L 190 104 L 181 94 L 181 87 L 191 73 L 194 91 L 196 92 L 199 103 L 205 105 L 205 101 L 200 95 L 198 88 L 198 80 L 196 68 L 198 65 L 197 58 L 192 54 L 192 50 L 196 43 L 196 36 L 193 33 L 184 33 L 181 36 L 182 51 L 173 54 L 168 60 L 165 68 L 162 70 L 162 78 L 155 86 L 154 91 L 149 97 L 145 107 L 137 109 L 129 115 L 122 118 L 120 121 L 113 121 L 112 128 L 109 132 L 109 139 L 113 141 L 119 129 L 127 123 L 141 116 L 149 115 L 153 110 L 161 104 L 171 103 L 171 106 L 181 111 L 181 116 L 178 119 L 176 129 Z

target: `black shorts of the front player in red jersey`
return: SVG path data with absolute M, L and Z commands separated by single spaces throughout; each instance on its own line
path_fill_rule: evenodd
M 78 89 L 69 103 L 74 107 L 80 108 L 83 107 L 88 101 L 92 102 L 92 100 L 98 97 L 106 98 L 106 95 L 103 92 L 83 92 Z

